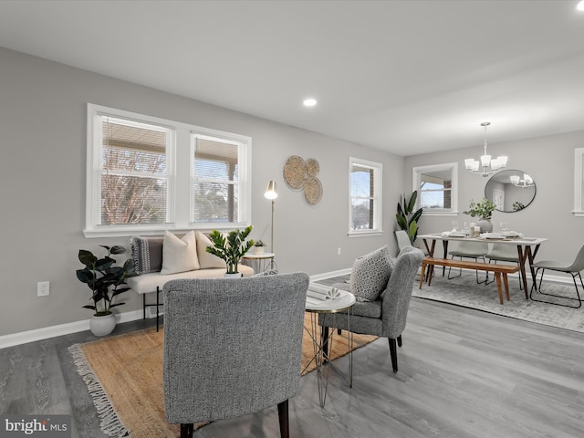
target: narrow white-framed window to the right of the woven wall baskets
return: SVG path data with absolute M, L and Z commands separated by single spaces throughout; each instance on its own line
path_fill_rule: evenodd
M 349 159 L 349 235 L 381 233 L 379 162 Z

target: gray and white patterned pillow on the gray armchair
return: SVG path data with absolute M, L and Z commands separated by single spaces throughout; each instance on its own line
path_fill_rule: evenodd
M 392 267 L 389 245 L 359 257 L 350 273 L 350 292 L 357 301 L 375 301 L 387 287 Z

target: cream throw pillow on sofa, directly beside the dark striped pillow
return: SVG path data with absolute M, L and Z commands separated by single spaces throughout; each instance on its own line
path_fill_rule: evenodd
M 162 244 L 162 275 L 199 269 L 197 258 L 197 243 L 194 231 L 188 232 L 179 239 L 170 232 L 164 234 Z

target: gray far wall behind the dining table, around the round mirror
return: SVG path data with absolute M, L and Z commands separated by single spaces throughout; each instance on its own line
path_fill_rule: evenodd
M 584 146 L 584 131 L 539 137 L 506 143 L 489 143 L 491 155 L 506 154 L 507 168 L 518 169 L 531 175 L 537 184 L 536 198 L 526 209 L 514 213 L 493 214 L 495 231 L 499 223 L 506 221 L 511 230 L 526 236 L 547 237 L 541 245 L 537 260 L 558 259 L 571 261 L 584 244 L 584 218 L 575 217 L 574 196 L 574 149 Z M 471 199 L 483 198 L 488 178 L 464 169 L 464 159 L 477 159 L 482 153 L 480 146 L 462 150 L 443 151 L 415 155 L 405 159 L 404 187 L 412 190 L 412 167 L 443 162 L 458 162 L 459 193 L 458 222 L 473 220 L 462 214 Z M 436 233 L 450 229 L 454 217 L 423 216 L 421 233 Z

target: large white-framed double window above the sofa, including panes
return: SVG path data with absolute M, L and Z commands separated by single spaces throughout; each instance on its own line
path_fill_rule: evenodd
M 245 226 L 250 155 L 249 137 L 89 104 L 84 234 Z

